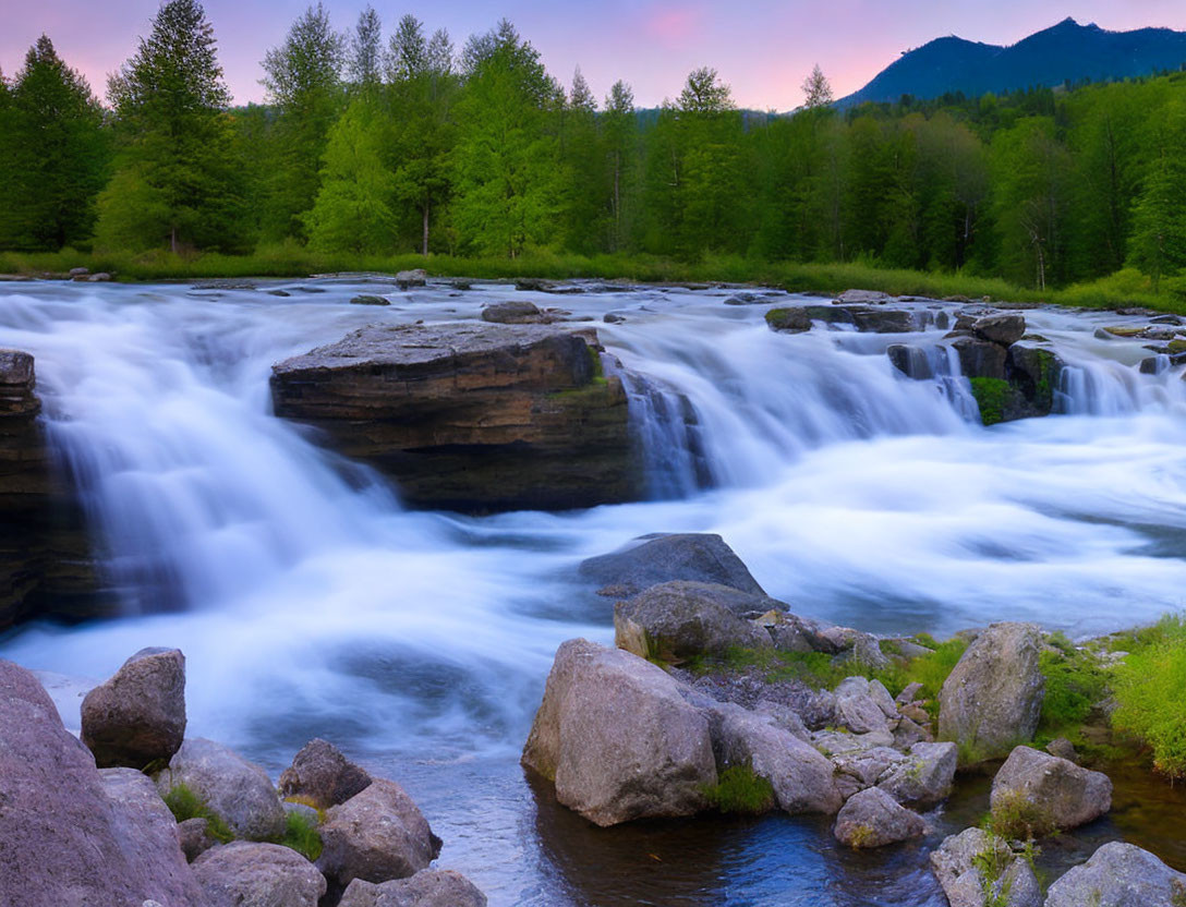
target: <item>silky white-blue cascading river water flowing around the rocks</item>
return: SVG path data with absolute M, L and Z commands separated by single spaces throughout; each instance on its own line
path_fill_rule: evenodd
M 119 620 L 26 627 L 0 653 L 104 677 L 141 646 L 180 646 L 191 734 L 273 769 L 313 735 L 347 746 L 409 784 L 451 842 L 446 864 L 491 903 L 585 903 L 605 883 L 556 850 L 549 823 L 567 819 L 536 806 L 515 766 L 559 643 L 612 638 L 612 602 L 574 581 L 584 557 L 645 532 L 720 532 L 797 611 L 884 632 L 1033 619 L 1088 633 L 1181 607 L 1186 383 L 1178 366 L 1141 373 L 1140 341 L 1096 338 L 1115 315 L 1027 312 L 1069 363 L 1065 415 L 984 429 L 933 317 L 916 334 L 789 336 L 763 314 L 805 300 L 566 296 L 576 317 L 625 315 L 598 331 L 624 370 L 653 499 L 468 518 L 402 510 L 397 488 L 274 419 L 267 379 L 365 324 L 474 318 L 506 290 L 431 287 L 375 309 L 346 305 L 363 289 L 349 282 L 287 289 L 0 293 L 0 346 L 37 357 L 52 443 L 127 606 Z M 899 373 L 891 343 L 930 349 L 930 377 Z M 782 822 L 811 851 L 815 832 Z M 629 884 L 598 902 L 646 889 L 614 866 Z M 742 860 L 687 876 L 700 894 L 652 900 L 718 903 L 729 871 L 759 870 L 788 867 Z M 795 873 L 827 886 L 835 869 Z M 901 884 L 919 900 L 933 887 Z

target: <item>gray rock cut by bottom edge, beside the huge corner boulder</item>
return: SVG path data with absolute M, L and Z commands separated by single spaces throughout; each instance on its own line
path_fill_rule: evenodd
M 325 877 L 279 844 L 234 841 L 193 861 L 210 907 L 317 907 Z

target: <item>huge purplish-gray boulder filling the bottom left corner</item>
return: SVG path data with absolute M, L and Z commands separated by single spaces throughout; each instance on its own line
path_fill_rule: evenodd
M 0 660 L 0 899 L 205 907 L 172 817 L 130 775 L 101 775 L 33 676 Z

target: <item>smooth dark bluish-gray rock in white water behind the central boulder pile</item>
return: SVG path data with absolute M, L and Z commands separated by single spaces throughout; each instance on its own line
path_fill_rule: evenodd
M 602 595 L 625 598 L 670 580 L 728 586 L 765 596 L 758 581 L 718 535 L 649 535 L 607 555 L 582 561 L 581 579 L 604 588 Z

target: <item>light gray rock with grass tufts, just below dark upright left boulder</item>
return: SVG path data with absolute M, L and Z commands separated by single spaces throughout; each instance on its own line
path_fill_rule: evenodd
M 161 796 L 178 785 L 204 800 L 236 837 L 268 841 L 283 832 L 285 811 L 267 773 L 222 743 L 186 740 L 157 775 Z

